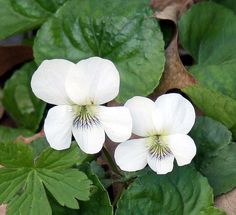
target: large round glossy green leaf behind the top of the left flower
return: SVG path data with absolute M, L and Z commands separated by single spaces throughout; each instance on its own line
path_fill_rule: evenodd
M 164 67 L 160 27 L 146 0 L 72 0 L 37 34 L 37 63 L 63 58 L 73 62 L 91 56 L 110 59 L 121 76 L 118 101 L 148 95 Z

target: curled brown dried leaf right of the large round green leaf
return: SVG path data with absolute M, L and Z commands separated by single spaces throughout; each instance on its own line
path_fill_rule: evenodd
M 177 21 L 184 11 L 197 1 L 200 0 L 151 1 L 151 6 L 156 10 L 155 17 L 173 21 L 176 28 L 173 39 L 165 50 L 166 64 L 164 72 L 159 86 L 150 95 L 150 98 L 152 99 L 156 99 L 156 97 L 170 89 L 181 89 L 196 84 L 195 78 L 186 70 L 179 57 Z

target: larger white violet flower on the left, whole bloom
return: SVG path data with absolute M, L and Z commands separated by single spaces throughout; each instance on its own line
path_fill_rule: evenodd
M 69 148 L 73 134 L 84 152 L 94 154 L 102 149 L 105 132 L 114 142 L 127 140 L 132 131 L 128 108 L 101 105 L 118 95 L 119 85 L 119 72 L 107 59 L 91 57 L 77 64 L 63 59 L 43 61 L 31 87 L 38 98 L 57 105 L 44 123 L 50 146 Z

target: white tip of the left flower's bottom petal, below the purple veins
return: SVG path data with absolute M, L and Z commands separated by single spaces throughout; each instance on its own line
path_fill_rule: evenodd
M 105 132 L 101 125 L 94 124 L 88 128 L 73 126 L 72 133 L 81 150 L 87 154 L 96 154 L 105 142 Z

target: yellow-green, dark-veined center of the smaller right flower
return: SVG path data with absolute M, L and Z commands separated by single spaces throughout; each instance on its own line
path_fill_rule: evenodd
M 153 157 L 163 159 L 172 154 L 168 145 L 161 139 L 161 136 L 156 135 L 149 138 L 147 143 L 148 151 Z

